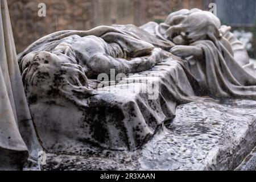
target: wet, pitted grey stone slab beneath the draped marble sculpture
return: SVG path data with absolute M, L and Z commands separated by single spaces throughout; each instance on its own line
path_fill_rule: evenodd
M 76 155 L 47 154 L 42 169 L 249 170 L 255 169 L 255 145 L 256 101 L 206 98 L 177 107 L 172 123 L 137 151 L 88 146 Z

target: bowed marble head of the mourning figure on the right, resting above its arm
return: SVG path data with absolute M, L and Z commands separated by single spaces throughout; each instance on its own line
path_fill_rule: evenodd
M 220 38 L 220 27 L 220 20 L 209 11 L 183 9 L 171 13 L 160 24 L 160 32 L 175 44 L 191 44 L 197 40 L 216 42 Z

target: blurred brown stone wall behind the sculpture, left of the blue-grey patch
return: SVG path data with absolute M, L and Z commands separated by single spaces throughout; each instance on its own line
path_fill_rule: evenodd
M 46 3 L 46 17 L 38 16 Z M 88 30 L 105 24 L 154 20 L 162 22 L 173 11 L 207 9 L 208 0 L 8 0 L 17 53 L 44 35 L 60 30 Z

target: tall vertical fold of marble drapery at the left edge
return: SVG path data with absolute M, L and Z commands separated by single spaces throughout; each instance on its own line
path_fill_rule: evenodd
M 0 1 L 0 169 L 21 169 L 39 148 L 16 59 L 7 2 Z

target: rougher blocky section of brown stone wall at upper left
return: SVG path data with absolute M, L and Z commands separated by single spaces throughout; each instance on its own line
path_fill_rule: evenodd
M 46 17 L 38 16 L 38 5 L 46 3 Z M 8 0 L 16 51 L 59 30 L 83 30 L 93 26 L 90 0 Z

